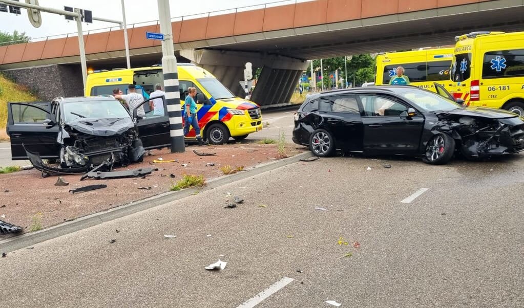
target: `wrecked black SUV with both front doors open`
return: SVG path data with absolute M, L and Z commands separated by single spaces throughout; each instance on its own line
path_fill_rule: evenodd
M 57 97 L 7 108 L 12 158 L 29 159 L 43 172 L 85 172 L 105 161 L 125 166 L 142 161 L 145 149 L 170 144 L 167 116 L 134 119 L 113 97 Z M 56 159 L 60 167 L 41 159 Z

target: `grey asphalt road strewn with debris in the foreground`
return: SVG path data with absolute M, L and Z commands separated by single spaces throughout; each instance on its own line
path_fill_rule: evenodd
M 235 307 L 281 281 L 257 307 L 521 307 L 523 167 L 522 155 L 291 164 L 10 252 L 0 302 Z M 228 192 L 245 203 L 224 208 Z M 223 271 L 204 269 L 219 258 Z

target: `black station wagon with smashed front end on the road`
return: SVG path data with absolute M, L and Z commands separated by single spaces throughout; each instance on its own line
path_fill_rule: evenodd
M 524 117 L 464 107 L 439 84 L 375 86 L 309 95 L 294 114 L 293 141 L 320 157 L 336 150 L 422 157 L 444 164 L 524 151 Z

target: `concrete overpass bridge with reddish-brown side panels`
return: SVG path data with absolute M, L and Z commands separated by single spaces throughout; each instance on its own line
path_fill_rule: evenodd
M 524 30 L 524 0 L 316 0 L 257 9 L 174 18 L 174 48 L 181 61 L 211 71 L 237 95 L 245 62 L 262 68 L 252 99 L 289 101 L 309 59 L 454 44 L 474 30 Z M 286 4 L 288 3 L 288 4 Z M 258 6 L 260 7 L 260 6 Z M 128 28 L 132 67 L 160 63 L 161 45 Z M 125 67 L 123 30 L 84 34 L 88 67 Z M 42 97 L 82 94 L 77 36 L 0 47 L 0 70 Z M 281 95 L 275 95 L 279 93 Z

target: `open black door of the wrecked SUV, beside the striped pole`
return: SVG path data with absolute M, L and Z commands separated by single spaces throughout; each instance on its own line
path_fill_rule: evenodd
M 152 108 L 149 107 L 150 102 Z M 146 111 L 146 116 L 142 118 L 137 117 L 137 109 L 140 106 L 143 106 L 144 111 Z M 144 149 L 148 150 L 171 146 L 169 116 L 166 98 L 164 96 L 149 98 L 149 100 L 138 105 L 132 112 L 133 117 L 137 118 L 138 137 L 142 140 Z

